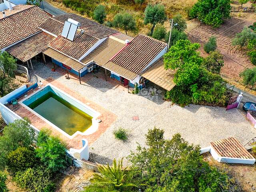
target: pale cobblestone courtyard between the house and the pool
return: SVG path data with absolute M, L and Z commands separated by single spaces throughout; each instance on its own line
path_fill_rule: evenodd
M 202 147 L 208 146 L 213 140 L 231 136 L 246 144 L 256 136 L 256 130 L 237 109 L 226 111 L 225 108 L 199 105 L 181 108 L 164 101 L 161 90 L 154 96 L 145 90 L 134 95 L 128 94 L 127 89 L 117 88 L 97 78 L 97 74 L 85 76 L 84 81 L 91 78 L 80 85 L 77 80 L 66 80 L 62 69 L 57 70 L 62 74 L 51 72 L 44 65 L 35 66 L 34 69 L 31 72 L 32 81 L 52 77 L 118 116 L 117 121 L 90 146 L 90 161 L 93 162 L 106 164 L 111 163 L 113 158 L 126 157 L 130 150 L 136 149 L 137 142 L 144 145 L 147 130 L 154 126 L 163 129 L 166 138 L 172 138 L 173 134 L 179 132 L 188 142 Z M 139 116 L 139 120 L 132 120 L 133 116 Z M 115 140 L 112 132 L 118 127 L 129 130 L 128 141 Z

